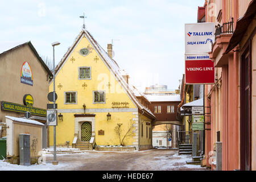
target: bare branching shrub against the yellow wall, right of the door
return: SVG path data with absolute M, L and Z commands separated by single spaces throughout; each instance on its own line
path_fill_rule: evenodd
M 129 125 L 127 127 L 127 131 L 125 132 L 125 134 L 122 134 L 123 133 L 123 129 L 121 128 L 122 123 L 117 123 L 117 126 L 115 126 L 115 133 L 119 137 L 119 143 L 120 143 L 121 146 L 124 145 L 123 142 L 124 142 L 125 138 L 134 136 L 134 133 L 133 133 L 133 129 L 135 128 L 134 123 L 135 123 L 134 121 L 129 122 Z M 123 137 L 122 137 L 122 135 L 123 135 Z

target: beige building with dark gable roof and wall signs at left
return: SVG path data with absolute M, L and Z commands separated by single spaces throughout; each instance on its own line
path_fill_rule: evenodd
M 20 118 L 30 111 L 31 119 L 45 124 L 52 73 L 31 42 L 0 51 L 0 78 L 0 123 L 4 130 L 0 137 L 6 135 L 6 115 Z M 44 126 L 44 147 L 46 130 Z

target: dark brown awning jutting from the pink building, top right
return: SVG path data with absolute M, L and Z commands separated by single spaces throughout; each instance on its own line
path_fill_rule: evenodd
M 245 13 L 245 15 L 242 16 L 242 18 L 237 20 L 237 26 L 236 30 L 234 31 L 230 41 L 229 46 L 226 48 L 225 53 L 229 53 L 234 47 L 239 44 L 243 38 L 243 35 L 245 34 L 249 24 L 253 20 L 255 16 L 256 10 L 256 0 L 251 1 L 250 5 L 248 6 L 248 9 Z

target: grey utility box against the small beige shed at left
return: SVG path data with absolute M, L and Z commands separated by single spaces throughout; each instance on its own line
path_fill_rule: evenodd
M 30 166 L 30 135 L 19 134 L 19 165 Z

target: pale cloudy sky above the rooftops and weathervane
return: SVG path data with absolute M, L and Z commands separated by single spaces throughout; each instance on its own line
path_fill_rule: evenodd
M 184 24 L 196 23 L 204 0 L 0 0 L 1 43 L 31 41 L 39 55 L 59 63 L 86 29 L 106 50 L 114 41 L 114 60 L 141 91 L 153 84 L 177 89 L 184 73 Z

